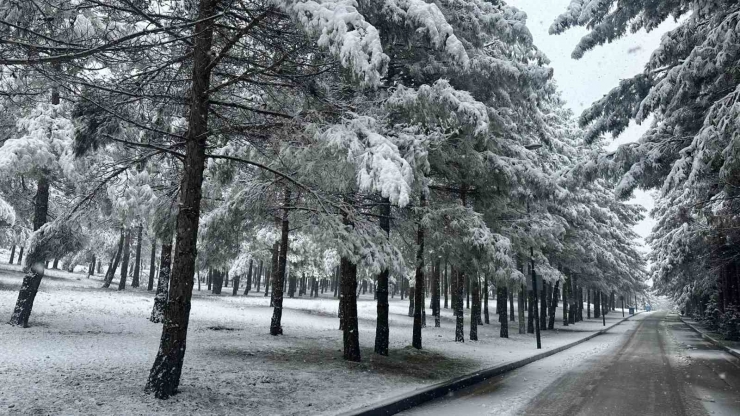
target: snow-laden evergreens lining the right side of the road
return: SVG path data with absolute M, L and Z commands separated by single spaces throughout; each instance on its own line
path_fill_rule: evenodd
M 623 80 L 581 115 L 587 141 L 617 135 L 630 120 L 653 118 L 638 142 L 600 155 L 585 170 L 613 179 L 619 196 L 636 188 L 658 191 L 658 221 L 649 239 L 656 287 L 710 325 L 735 321 L 740 284 L 731 242 L 737 228 L 738 145 L 732 120 L 740 56 L 733 45 L 740 10 L 732 1 L 596 3 L 572 2 L 550 29 L 590 29 L 573 52 L 576 58 L 628 29 L 652 30 L 669 17 L 680 20 L 642 73 Z

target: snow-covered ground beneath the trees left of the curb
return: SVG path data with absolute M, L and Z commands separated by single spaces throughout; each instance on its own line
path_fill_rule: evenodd
M 10 316 L 21 278 L 0 271 L 1 320 Z M 285 335 L 272 337 L 272 309 L 262 294 L 232 297 L 224 288 L 216 296 L 204 288 L 193 297 L 181 394 L 162 402 L 143 393 L 161 331 L 147 320 L 153 293 L 100 285 L 99 276 L 51 271 L 36 298 L 32 327 L 0 325 L 0 413 L 336 414 L 537 353 L 533 335 L 511 328 L 510 338 L 501 339 L 498 324 L 479 327 L 478 342 L 455 343 L 449 310 L 441 328 L 431 327 L 428 316 L 424 350 L 413 350 L 408 303 L 396 297 L 390 302 L 390 356 L 379 357 L 372 353 L 375 302 L 363 295 L 363 362 L 348 363 L 342 360 L 335 299 L 286 298 Z M 611 313 L 607 325 L 618 319 L 621 313 Z M 467 316 L 465 322 L 467 338 Z M 544 331 L 543 348 L 599 328 L 601 320 L 592 320 Z

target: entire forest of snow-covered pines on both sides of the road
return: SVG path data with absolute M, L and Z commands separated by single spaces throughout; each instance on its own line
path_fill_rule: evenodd
M 29 325 L 47 267 L 146 285 L 158 398 L 177 392 L 194 289 L 271 296 L 275 336 L 286 297 L 333 293 L 350 361 L 358 292 L 381 355 L 389 296 L 408 296 L 415 348 L 447 307 L 450 337 L 476 340 L 494 295 L 502 337 L 552 329 L 559 300 L 569 323 L 584 302 L 635 305 L 638 187 L 659 190 L 655 286 L 737 336 L 732 1 L 573 0 L 551 31 L 589 29 L 576 58 L 682 18 L 580 119 L 498 0 L 4 0 L 0 16 L 0 225 L 25 273 L 10 323 Z M 648 133 L 605 152 L 632 119 Z

